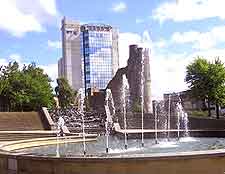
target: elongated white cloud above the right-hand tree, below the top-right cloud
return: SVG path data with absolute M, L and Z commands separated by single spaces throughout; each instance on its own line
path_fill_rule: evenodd
M 209 49 L 225 42 L 225 25 L 213 27 L 208 32 L 176 32 L 171 37 L 172 43 L 191 43 L 196 49 Z

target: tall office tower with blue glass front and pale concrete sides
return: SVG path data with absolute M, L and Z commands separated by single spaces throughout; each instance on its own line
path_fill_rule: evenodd
M 70 75 L 67 79 L 76 90 L 105 89 L 119 68 L 118 31 L 110 25 L 79 25 L 63 19 L 62 33 L 66 60 L 59 61 L 59 76 Z M 63 68 L 62 62 L 68 67 Z M 60 73 L 64 69 L 69 71 L 65 75 Z

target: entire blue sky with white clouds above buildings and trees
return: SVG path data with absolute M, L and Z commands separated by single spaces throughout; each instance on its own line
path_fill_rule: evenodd
M 61 19 L 117 27 L 120 67 L 129 44 L 151 49 L 153 99 L 188 89 L 185 67 L 197 56 L 225 62 L 222 0 L 4 0 L 0 2 L 0 65 L 35 62 L 54 81 L 62 56 Z

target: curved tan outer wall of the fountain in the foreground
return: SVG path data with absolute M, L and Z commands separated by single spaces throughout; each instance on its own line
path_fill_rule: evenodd
M 44 158 L 0 155 L 0 173 L 16 174 L 223 174 L 225 151 L 139 158 Z M 8 174 L 8 173 L 7 173 Z

